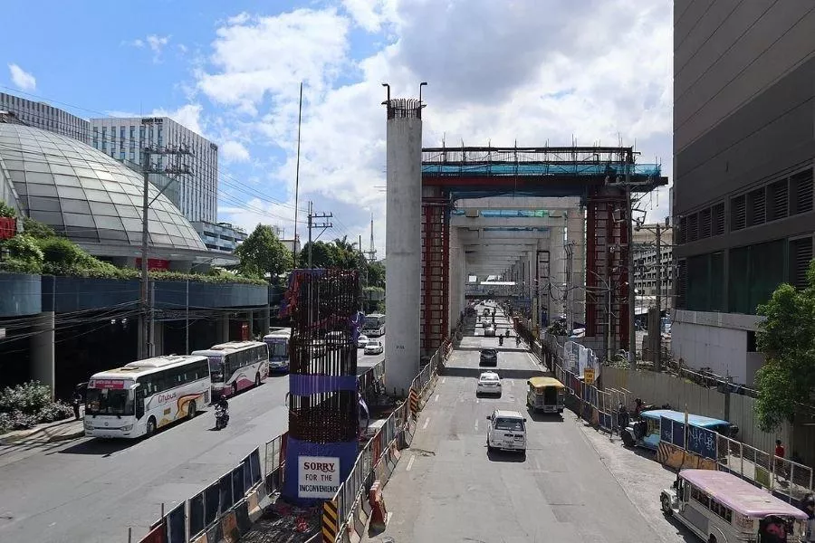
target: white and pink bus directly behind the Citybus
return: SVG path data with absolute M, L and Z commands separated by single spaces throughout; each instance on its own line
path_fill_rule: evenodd
M 235 395 L 269 376 L 269 348 L 260 341 L 230 341 L 193 352 L 209 360 L 212 395 Z

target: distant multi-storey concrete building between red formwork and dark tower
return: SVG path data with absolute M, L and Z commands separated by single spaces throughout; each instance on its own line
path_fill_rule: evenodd
M 664 224 L 643 224 L 634 232 L 634 288 L 637 290 L 637 314 L 647 312 L 649 306 L 656 304 L 657 299 L 657 232 L 660 237 L 660 254 L 662 262 L 662 302 L 663 311 L 670 311 L 673 306 L 674 288 L 674 235 L 673 230 Z

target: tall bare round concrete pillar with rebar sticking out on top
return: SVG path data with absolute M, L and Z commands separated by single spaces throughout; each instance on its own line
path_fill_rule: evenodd
M 387 122 L 385 283 L 388 387 L 407 394 L 420 357 L 422 119 L 418 100 L 390 100 Z

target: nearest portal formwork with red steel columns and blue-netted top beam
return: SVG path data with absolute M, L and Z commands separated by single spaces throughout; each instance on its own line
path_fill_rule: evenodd
M 422 185 L 443 196 L 422 202 L 423 355 L 433 352 L 448 331 L 452 205 L 459 198 L 496 195 L 581 197 L 588 212 L 586 336 L 606 333 L 610 293 L 612 345 L 626 345 L 628 228 L 625 221 L 614 220 L 614 210 L 630 216 L 626 187 L 632 193 L 646 193 L 667 185 L 660 165 L 636 164 L 635 155 L 633 148 L 625 147 L 423 148 Z

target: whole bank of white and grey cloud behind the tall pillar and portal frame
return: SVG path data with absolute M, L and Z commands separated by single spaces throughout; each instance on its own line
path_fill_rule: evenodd
M 348 15 L 326 9 L 233 18 L 217 30 L 212 65 L 197 81 L 235 119 L 248 114 L 254 143 L 283 148 L 286 161 L 273 181 L 289 195 L 298 87 L 306 81 L 301 200 L 316 196 L 338 217 L 343 209 L 350 233 L 367 229 L 368 209 L 384 226 L 384 194 L 374 188 L 385 185 L 382 81 L 394 97 L 416 97 L 418 82 L 429 82 L 428 146 L 443 136 L 453 145 L 494 146 L 636 140 L 639 160 L 660 157 L 670 175 L 666 0 L 586 0 L 579 11 L 538 0 L 341 1 Z M 350 60 L 351 23 L 369 32 L 387 25 L 369 58 Z M 658 199 L 664 209 L 666 196 Z

